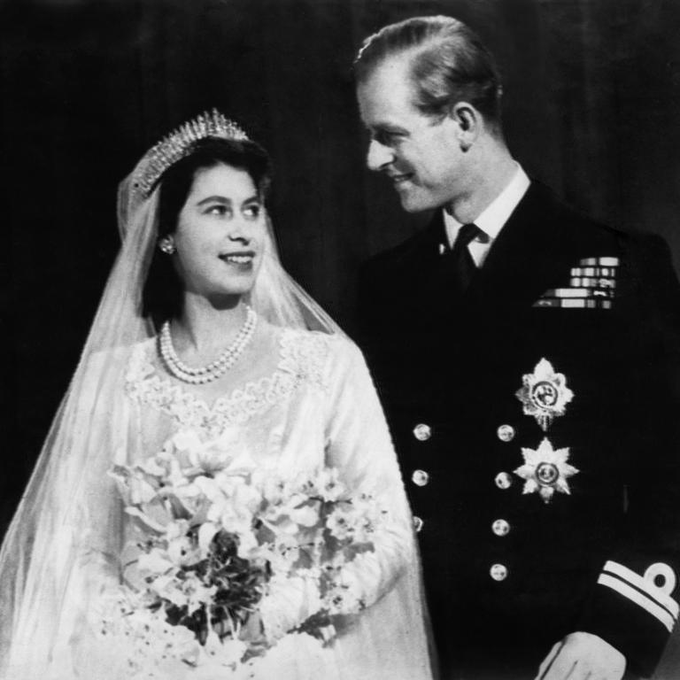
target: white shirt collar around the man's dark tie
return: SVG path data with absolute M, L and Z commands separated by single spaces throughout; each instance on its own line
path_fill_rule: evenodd
M 522 166 L 517 163 L 517 169 L 510 182 L 506 184 L 506 188 L 491 201 L 491 204 L 475 220 L 475 225 L 486 235 L 477 236 L 468 245 L 470 255 L 472 255 L 472 259 L 477 267 L 482 267 L 484 264 L 484 260 L 489 254 L 493 242 L 517 207 L 517 204 L 522 200 L 527 189 L 529 189 L 529 184 L 529 177 L 522 169 Z M 453 243 L 462 226 L 455 217 L 444 210 L 444 228 L 446 228 L 446 237 L 450 248 L 453 247 Z M 444 245 L 442 245 L 440 252 L 444 252 L 444 250 Z

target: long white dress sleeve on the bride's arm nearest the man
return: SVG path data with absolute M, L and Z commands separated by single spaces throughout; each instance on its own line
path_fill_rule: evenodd
M 328 465 L 352 490 L 368 490 L 388 511 L 387 529 L 357 579 L 367 605 L 380 599 L 415 561 L 413 524 L 390 432 L 359 349 L 337 338 L 328 359 Z

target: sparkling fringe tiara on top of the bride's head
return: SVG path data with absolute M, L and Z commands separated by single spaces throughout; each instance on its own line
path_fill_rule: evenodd
M 211 112 L 206 111 L 173 130 L 146 152 L 144 162 L 133 180 L 135 191 L 148 196 L 158 182 L 158 177 L 165 173 L 168 167 L 186 156 L 193 143 L 205 137 L 234 139 L 239 142 L 250 140 L 250 137 L 233 120 L 229 120 L 217 109 Z

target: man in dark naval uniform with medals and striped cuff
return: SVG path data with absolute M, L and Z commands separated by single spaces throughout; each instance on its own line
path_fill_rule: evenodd
M 442 676 L 648 676 L 680 593 L 667 248 L 529 179 L 460 21 L 384 27 L 355 66 L 368 167 L 406 211 L 435 210 L 359 292 Z

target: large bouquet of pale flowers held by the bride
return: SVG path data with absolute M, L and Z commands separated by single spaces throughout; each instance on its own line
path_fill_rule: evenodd
M 184 431 L 110 471 L 136 527 L 102 632 L 124 636 L 131 672 L 245 672 L 293 635 L 321 649 L 336 614 L 366 606 L 358 576 L 388 522 L 375 498 L 336 469 L 282 476 L 243 451 L 236 430 Z

